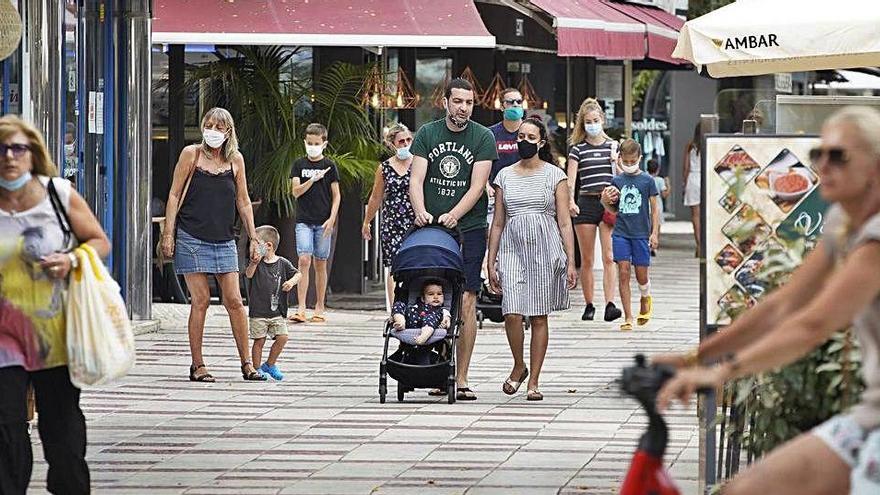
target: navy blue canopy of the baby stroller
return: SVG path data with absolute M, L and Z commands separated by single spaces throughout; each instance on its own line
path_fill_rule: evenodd
M 440 227 L 425 227 L 413 231 L 397 251 L 391 266 L 395 277 L 401 272 L 415 270 L 451 270 L 462 272 L 461 251 L 458 242 Z

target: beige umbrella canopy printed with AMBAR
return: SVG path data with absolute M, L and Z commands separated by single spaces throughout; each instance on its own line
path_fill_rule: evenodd
M 712 77 L 880 66 L 880 1 L 739 0 L 685 23 L 672 56 Z

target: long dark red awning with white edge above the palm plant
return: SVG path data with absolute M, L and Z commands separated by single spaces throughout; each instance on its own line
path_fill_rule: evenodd
M 153 43 L 492 48 L 472 0 L 154 0 Z

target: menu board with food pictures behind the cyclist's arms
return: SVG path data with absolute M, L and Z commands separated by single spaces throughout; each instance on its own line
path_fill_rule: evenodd
M 729 324 L 790 273 L 822 233 L 828 204 L 807 160 L 814 136 L 708 136 L 703 307 L 708 329 Z M 776 285 L 775 283 L 773 285 Z

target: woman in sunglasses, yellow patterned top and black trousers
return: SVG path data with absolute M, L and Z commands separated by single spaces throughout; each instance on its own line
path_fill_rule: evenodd
M 27 428 L 32 384 L 51 493 L 89 493 L 86 421 L 67 369 L 61 302 L 76 264 L 74 238 L 102 257 L 101 224 L 46 150 L 14 116 L 0 118 L 0 493 L 27 491 L 33 467 Z M 57 202 L 54 199 L 57 199 Z M 61 210 L 64 211 L 61 211 Z M 66 213 L 69 227 L 60 219 Z

